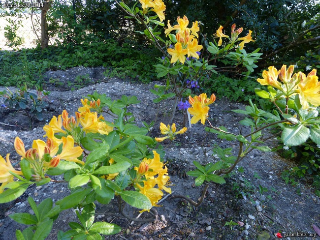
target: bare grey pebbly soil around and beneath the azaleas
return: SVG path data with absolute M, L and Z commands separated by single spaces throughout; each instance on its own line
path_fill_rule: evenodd
M 7 109 L 0 109 L 0 153 L 11 153 L 12 162 L 17 162 L 18 155 L 13 148 L 14 138 L 19 136 L 26 145 L 31 147 L 33 139 L 42 139 L 42 126 L 53 115 L 59 115 L 64 109 L 74 113 L 81 106 L 80 99 L 87 94 L 105 93 L 112 99 L 119 99 L 121 95 L 136 95 L 141 103 L 134 105 L 130 111 L 134 114 L 138 125 L 142 121 L 151 122 L 158 113 L 157 123 L 152 136 L 159 136 L 160 122 L 167 123 L 173 101 L 163 105 L 154 104 L 155 98 L 149 89 L 154 82 L 148 85 L 128 82 L 121 79 L 107 79 L 101 68 L 73 68 L 67 71 L 47 72 L 46 88 L 51 90 L 47 101 L 50 103 L 48 115 L 41 124 L 32 128 L 8 126 L 12 124 L 13 113 Z M 88 74 L 92 85 L 79 90 L 68 90 L 68 82 L 75 81 L 79 75 Z M 49 83 L 50 78 L 59 79 L 63 84 L 57 86 Z M 2 90 L 2 88 L 0 88 Z M 0 99 L 1 104 L 3 99 Z M 231 112 L 232 109 L 244 109 L 241 103 L 218 99 L 211 105 L 209 119 L 213 125 L 224 126 L 236 132 L 246 132 L 247 128 L 238 124 L 243 116 Z M 8 119 L 8 120 L 5 120 Z M 21 118 L 21 116 L 20 116 Z M 174 122 L 182 124 L 183 116 L 177 112 Z M 14 125 L 14 124 L 12 124 Z M 178 127 L 179 128 L 179 127 Z M 175 144 L 166 149 L 165 161 L 172 182 L 173 194 L 190 196 L 196 201 L 202 188 L 193 187 L 194 179 L 186 176 L 186 172 L 193 170 L 192 161 L 201 163 L 215 162 L 216 157 L 210 151 L 211 146 L 220 142 L 215 135 L 204 131 L 203 125 L 195 124 L 186 134 L 179 137 Z M 235 143 L 221 142 L 221 147 L 231 147 L 237 150 Z M 156 208 L 159 217 L 149 224 L 133 223 L 119 216 L 114 200 L 107 206 L 96 204 L 96 219 L 113 222 L 122 227 L 122 232 L 106 239 L 257 239 L 261 234 L 268 234 L 270 239 L 277 239 L 275 234 L 282 233 L 309 233 L 314 234 L 312 224 L 320 226 L 320 199 L 313 190 L 303 182 L 293 187 L 287 185 L 281 178 L 281 173 L 292 163 L 282 159 L 276 152 L 252 151 L 239 167 L 226 179 L 226 184 L 211 183 L 204 202 L 194 208 L 184 200 L 167 198 Z M 55 177 L 62 180 L 62 176 Z M 15 230 L 23 230 L 26 226 L 13 221 L 8 217 L 14 212 L 32 212 L 27 198 L 32 196 L 39 203 L 51 197 L 54 202 L 62 199 L 69 193 L 67 184 L 53 183 L 43 186 L 31 186 L 27 192 L 17 200 L 0 205 L 0 239 L 15 238 Z M 130 214 L 132 210 L 129 210 Z M 135 213 L 137 214 L 137 213 Z M 142 216 L 144 217 L 144 216 Z M 148 217 L 148 216 L 146 216 Z M 57 239 L 59 230 L 67 231 L 69 221 L 76 221 L 76 214 L 72 210 L 64 211 L 55 221 L 53 230 L 48 239 Z M 241 221 L 244 226 L 224 226 L 225 223 Z M 266 239 L 266 238 L 265 238 Z M 315 239 L 311 237 L 289 237 L 287 239 Z

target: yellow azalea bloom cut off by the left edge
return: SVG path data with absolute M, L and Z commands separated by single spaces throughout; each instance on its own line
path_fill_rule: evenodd
M 8 153 L 5 157 L 5 161 L 0 155 L 0 183 L 2 183 L 0 186 L 0 193 L 3 192 L 6 184 L 13 181 L 13 175 L 11 175 L 9 171 L 18 175 L 23 175 L 21 171 L 17 171 L 12 167 L 9 156 L 10 154 Z

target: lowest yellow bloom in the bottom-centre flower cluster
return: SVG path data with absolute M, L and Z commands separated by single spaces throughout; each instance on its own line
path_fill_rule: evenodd
M 158 207 L 157 203 L 163 196 L 163 192 L 155 188 L 156 180 L 155 179 L 148 179 L 146 181 L 143 181 L 144 186 L 141 186 L 140 184 L 136 183 L 135 187 L 140 190 L 140 192 L 145 195 L 151 202 L 152 206 Z M 143 211 L 149 211 L 149 209 L 142 210 Z

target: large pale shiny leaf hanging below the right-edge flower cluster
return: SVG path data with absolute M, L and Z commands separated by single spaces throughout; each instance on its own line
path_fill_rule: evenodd
M 310 135 L 309 128 L 302 124 L 296 124 L 294 127 L 285 127 L 281 138 L 287 146 L 298 146 L 307 141 Z

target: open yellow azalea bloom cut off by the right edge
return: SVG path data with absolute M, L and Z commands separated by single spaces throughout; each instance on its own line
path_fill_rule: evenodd
M 302 74 L 302 81 L 297 85 L 303 109 L 309 108 L 309 103 L 314 106 L 320 105 L 320 82 L 318 81 L 317 70 L 313 69 L 308 76 Z

